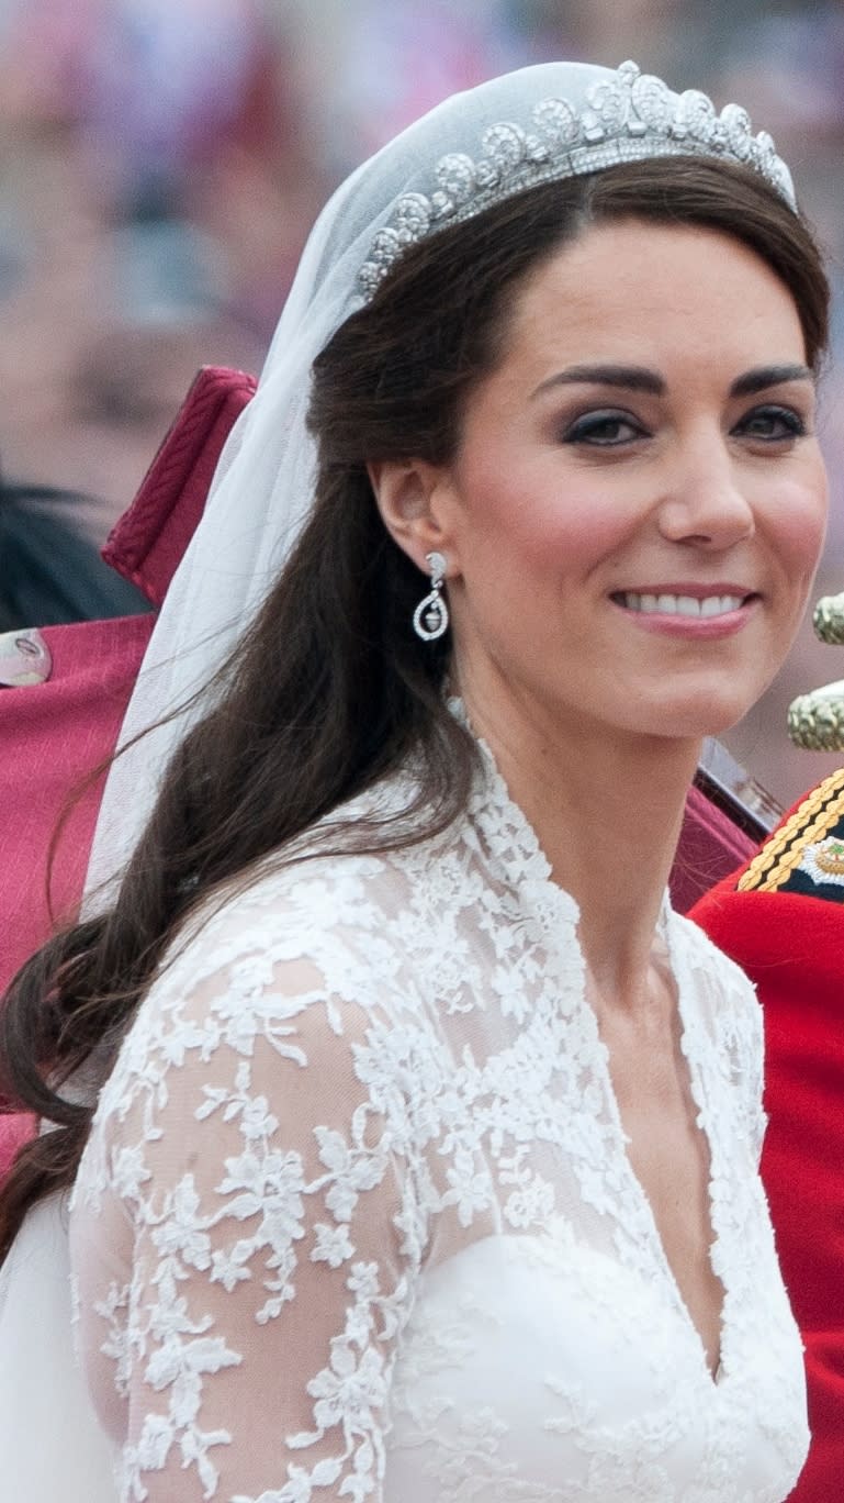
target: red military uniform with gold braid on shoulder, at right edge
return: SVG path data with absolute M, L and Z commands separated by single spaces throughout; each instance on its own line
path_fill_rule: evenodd
M 812 1446 L 793 1503 L 844 1498 L 844 771 L 694 908 L 764 1010 L 761 1174 L 806 1347 Z

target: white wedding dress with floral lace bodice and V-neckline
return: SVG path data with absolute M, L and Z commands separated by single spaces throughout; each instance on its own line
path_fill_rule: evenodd
M 445 836 L 267 870 L 180 945 L 71 1213 L 116 1498 L 788 1494 L 808 1434 L 757 1178 L 757 1003 L 667 912 L 725 1288 L 713 1378 L 628 1160 L 577 917 L 487 764 Z

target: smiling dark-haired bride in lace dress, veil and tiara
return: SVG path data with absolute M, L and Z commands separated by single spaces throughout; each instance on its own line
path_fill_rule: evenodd
M 327 206 L 126 720 L 116 879 L 3 1012 L 56 1124 L 6 1309 L 72 1186 L 84 1357 L 0 1341 L 20 1495 L 790 1492 L 758 1010 L 665 884 L 811 583 L 826 302 L 769 138 L 634 65 L 455 96 Z

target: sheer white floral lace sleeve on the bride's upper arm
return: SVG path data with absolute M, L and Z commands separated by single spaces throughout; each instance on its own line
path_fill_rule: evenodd
M 110 1357 L 126 1405 L 123 1500 L 381 1498 L 424 1228 L 402 1109 L 356 1073 L 378 1027 L 258 948 L 147 998 L 74 1207 L 89 1378 Z

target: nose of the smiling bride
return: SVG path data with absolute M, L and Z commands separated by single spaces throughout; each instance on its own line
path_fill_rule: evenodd
M 755 516 L 746 479 L 721 433 L 677 445 L 659 505 L 662 537 L 713 553 L 751 538 Z

